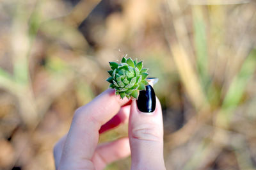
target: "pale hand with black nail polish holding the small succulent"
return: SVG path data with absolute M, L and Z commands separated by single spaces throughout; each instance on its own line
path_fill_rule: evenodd
M 103 169 L 130 152 L 131 169 L 165 169 L 161 105 L 154 89 L 146 89 L 137 102 L 121 100 L 108 89 L 77 109 L 68 134 L 54 146 L 56 169 Z M 98 145 L 100 133 L 128 117 L 129 138 Z

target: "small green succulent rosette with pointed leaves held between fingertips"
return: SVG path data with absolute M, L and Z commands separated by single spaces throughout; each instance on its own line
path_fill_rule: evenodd
M 148 68 L 143 68 L 143 61 L 123 56 L 120 64 L 109 62 L 109 65 L 112 69 L 108 71 L 110 77 L 106 80 L 111 83 L 109 88 L 115 89 L 116 95 L 121 98 L 138 98 L 139 90 L 145 89 L 148 84 Z

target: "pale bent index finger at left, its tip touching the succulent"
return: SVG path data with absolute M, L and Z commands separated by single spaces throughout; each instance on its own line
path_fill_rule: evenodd
M 74 161 L 77 162 L 76 165 L 82 164 L 81 167 L 91 164 L 90 159 L 97 147 L 101 125 L 110 120 L 127 102 L 127 98 L 121 100 L 115 95 L 115 90 L 108 89 L 89 104 L 77 109 L 65 141 L 61 162 L 65 162 L 70 169 L 74 169 Z

